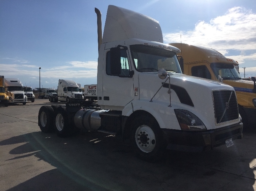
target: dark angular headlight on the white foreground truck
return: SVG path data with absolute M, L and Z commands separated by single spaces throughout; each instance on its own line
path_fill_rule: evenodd
M 204 123 L 187 110 L 174 110 L 182 130 L 206 130 Z

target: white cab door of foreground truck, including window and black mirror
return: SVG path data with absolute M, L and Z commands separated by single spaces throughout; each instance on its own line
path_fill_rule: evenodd
M 105 51 L 103 71 L 103 105 L 122 110 L 133 100 L 133 71 L 127 47 L 118 46 Z

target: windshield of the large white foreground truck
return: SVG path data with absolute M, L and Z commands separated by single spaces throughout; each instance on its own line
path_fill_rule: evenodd
M 130 48 L 134 67 L 139 72 L 154 72 L 163 68 L 182 73 L 176 54 L 170 50 L 148 45 L 131 45 Z

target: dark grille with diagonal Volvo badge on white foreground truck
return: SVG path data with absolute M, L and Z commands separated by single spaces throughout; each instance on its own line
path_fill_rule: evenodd
M 238 119 L 235 91 L 213 91 L 214 110 L 217 123 Z

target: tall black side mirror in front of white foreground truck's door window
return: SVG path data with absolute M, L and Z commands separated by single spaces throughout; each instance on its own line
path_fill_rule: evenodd
M 110 73 L 113 75 L 121 74 L 121 51 L 119 47 L 110 48 Z

